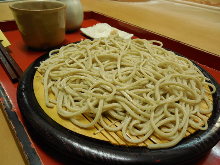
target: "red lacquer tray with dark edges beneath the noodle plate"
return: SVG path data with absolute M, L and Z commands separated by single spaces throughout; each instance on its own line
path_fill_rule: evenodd
M 165 48 L 171 49 L 191 60 L 196 61 L 204 69 L 206 69 L 218 81 L 218 83 L 220 83 L 220 65 L 218 65 L 220 63 L 220 57 L 218 57 L 216 54 L 212 54 L 171 38 L 153 33 L 146 29 L 142 29 L 140 27 L 127 24 L 120 20 L 116 20 L 95 12 L 85 12 L 82 27 L 92 26 L 99 22 L 108 23 L 120 30 L 133 33 L 139 38 L 162 41 Z M 21 39 L 21 35 L 17 30 L 17 26 L 14 21 L 0 22 L 0 29 L 11 42 L 11 46 L 9 47 L 11 56 L 15 59 L 23 71 L 26 70 L 26 68 L 33 61 L 45 53 L 44 51 L 36 52 L 27 49 Z M 85 38 L 86 37 L 82 35 L 80 31 L 76 31 L 74 33 L 66 34 L 64 44 L 80 41 Z M 62 158 L 58 158 L 56 155 L 51 154 L 52 152 L 50 152 L 50 149 L 38 144 L 37 140 L 33 139 L 33 137 L 29 137 L 29 134 L 26 132 L 26 127 L 23 125 L 23 119 L 17 105 L 17 84 L 12 84 L 2 66 L 0 66 L 0 75 L 0 97 L 3 98 L 0 101 L 2 101 L 5 106 L 5 115 L 13 128 L 19 144 L 21 144 L 22 151 L 28 162 L 30 164 L 42 163 L 45 165 L 65 164 L 66 160 L 62 160 Z M 72 162 L 72 164 L 79 164 L 79 162 Z M 220 142 L 214 148 L 212 148 L 209 154 L 204 156 L 202 160 L 196 163 L 196 165 L 217 164 L 220 164 Z

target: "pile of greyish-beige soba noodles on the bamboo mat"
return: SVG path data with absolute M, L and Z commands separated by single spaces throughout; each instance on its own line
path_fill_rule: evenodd
M 106 131 L 121 131 L 131 143 L 153 134 L 166 140 L 149 144 L 150 149 L 176 145 L 188 127 L 206 130 L 205 115 L 213 109 L 207 95 L 215 87 L 191 61 L 159 41 L 117 35 L 84 40 L 51 51 L 38 71 L 47 107 L 56 106 L 60 116 L 83 129 L 99 124 Z M 79 115 L 92 121 L 82 123 Z

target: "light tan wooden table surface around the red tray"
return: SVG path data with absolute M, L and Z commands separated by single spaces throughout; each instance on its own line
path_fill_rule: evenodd
M 220 56 L 220 8 L 176 3 L 175 0 L 146 2 L 81 0 L 81 3 L 85 11 L 100 12 Z M 4 13 L 0 15 L 0 21 L 13 19 L 8 4 L 9 2 L 0 3 L 0 11 Z M 25 164 L 25 159 L 1 110 L 0 125 L 1 164 Z M 219 147 L 214 147 L 211 154 L 220 162 Z M 211 158 L 206 160 L 207 163 Z

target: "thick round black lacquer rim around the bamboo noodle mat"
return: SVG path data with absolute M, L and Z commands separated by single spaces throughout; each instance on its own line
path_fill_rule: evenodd
M 117 146 L 86 137 L 52 120 L 38 104 L 33 91 L 36 67 L 47 58 L 48 54 L 41 56 L 25 71 L 18 85 L 17 99 L 28 130 L 35 132 L 35 139 L 54 150 L 58 157 L 83 160 L 88 164 L 188 164 L 209 152 L 220 140 L 220 87 L 215 79 L 197 64 L 195 65 L 217 88 L 213 94 L 214 110 L 208 121 L 208 130 L 197 131 L 175 147 L 150 150 L 146 147 Z

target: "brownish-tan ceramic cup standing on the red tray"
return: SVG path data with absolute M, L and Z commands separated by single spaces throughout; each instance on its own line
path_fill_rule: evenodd
M 26 45 L 49 49 L 65 39 L 66 5 L 58 1 L 28 0 L 9 5 Z

